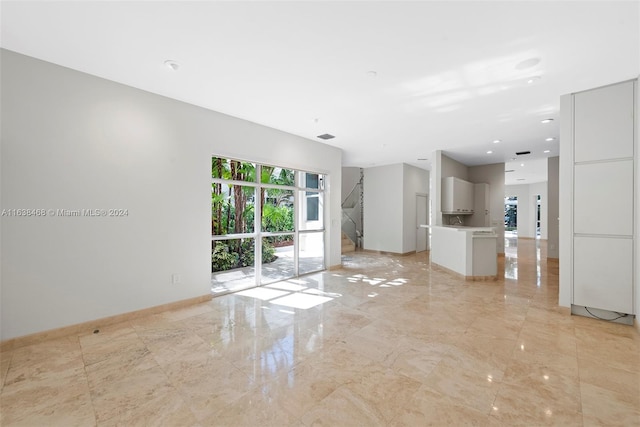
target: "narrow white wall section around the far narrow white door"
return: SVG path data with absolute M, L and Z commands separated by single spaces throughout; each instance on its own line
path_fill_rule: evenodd
M 403 232 L 402 253 L 416 250 L 416 233 L 425 229 L 416 229 L 416 195 L 429 193 L 429 171 L 415 166 L 403 166 Z

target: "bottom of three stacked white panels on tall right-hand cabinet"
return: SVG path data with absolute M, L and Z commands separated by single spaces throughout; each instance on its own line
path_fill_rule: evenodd
M 633 240 L 575 237 L 573 303 L 633 313 Z

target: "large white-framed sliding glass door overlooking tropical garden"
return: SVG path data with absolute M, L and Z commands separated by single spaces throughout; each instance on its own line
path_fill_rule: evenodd
M 324 176 L 214 157 L 211 289 L 238 291 L 324 266 Z

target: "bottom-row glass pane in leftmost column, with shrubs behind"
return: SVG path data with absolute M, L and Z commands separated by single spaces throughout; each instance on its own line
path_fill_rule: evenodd
M 235 292 L 256 285 L 253 238 L 211 242 L 211 292 Z

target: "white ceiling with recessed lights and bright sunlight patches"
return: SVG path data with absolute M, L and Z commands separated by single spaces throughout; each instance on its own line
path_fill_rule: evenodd
M 429 169 L 418 159 L 444 150 L 534 170 L 519 165 L 558 155 L 561 95 L 640 75 L 638 1 L 0 7 L 6 49 L 316 141 L 333 134 L 345 166 Z M 507 183 L 544 181 L 546 169 L 516 175 Z

